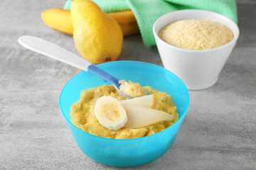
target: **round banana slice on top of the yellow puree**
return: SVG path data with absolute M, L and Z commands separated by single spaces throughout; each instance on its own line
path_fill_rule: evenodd
M 94 112 L 100 124 L 109 130 L 119 130 L 127 123 L 124 107 L 111 96 L 97 98 Z

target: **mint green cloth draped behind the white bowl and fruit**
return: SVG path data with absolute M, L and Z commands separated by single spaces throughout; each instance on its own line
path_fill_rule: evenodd
M 157 18 L 181 9 L 203 9 L 220 13 L 238 23 L 235 0 L 92 0 L 106 13 L 132 10 L 137 19 L 144 45 L 156 45 L 153 25 Z M 70 9 L 72 1 L 64 6 Z

